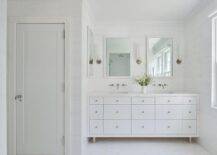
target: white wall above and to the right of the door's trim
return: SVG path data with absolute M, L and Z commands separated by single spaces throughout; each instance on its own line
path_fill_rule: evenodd
M 71 19 L 70 150 L 73 155 L 79 155 L 81 151 L 81 3 L 80 0 L 10 0 L 8 3 L 8 17 L 69 17 Z

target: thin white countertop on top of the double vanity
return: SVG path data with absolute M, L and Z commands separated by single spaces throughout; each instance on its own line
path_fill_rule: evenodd
M 89 92 L 91 96 L 198 96 L 196 93 Z

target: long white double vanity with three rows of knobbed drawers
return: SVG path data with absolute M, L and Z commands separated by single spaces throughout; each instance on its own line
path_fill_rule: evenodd
M 94 93 L 88 137 L 198 137 L 196 94 Z

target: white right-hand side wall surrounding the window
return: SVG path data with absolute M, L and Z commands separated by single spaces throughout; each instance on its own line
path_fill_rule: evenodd
M 212 154 L 217 154 L 217 110 L 211 106 L 211 20 L 217 10 L 214 1 L 186 21 L 185 89 L 200 93 L 200 138 Z

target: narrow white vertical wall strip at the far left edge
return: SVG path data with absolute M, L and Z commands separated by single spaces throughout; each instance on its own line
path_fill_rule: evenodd
M 0 0 L 0 154 L 7 155 L 6 23 L 7 1 Z

